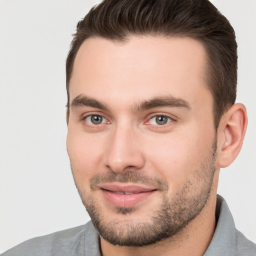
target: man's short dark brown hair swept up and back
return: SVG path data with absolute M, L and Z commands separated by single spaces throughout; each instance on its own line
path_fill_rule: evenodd
M 125 41 L 129 35 L 191 37 L 207 53 L 207 85 L 213 95 L 214 125 L 234 104 L 237 82 L 237 44 L 229 21 L 208 0 L 103 0 L 77 23 L 66 58 L 68 84 L 76 53 L 89 37 Z

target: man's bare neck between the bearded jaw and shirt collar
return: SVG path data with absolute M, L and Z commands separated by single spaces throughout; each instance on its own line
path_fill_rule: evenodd
M 175 235 L 142 247 L 112 245 L 100 237 L 102 256 L 203 255 L 215 230 L 216 192 L 212 190 L 202 211 Z

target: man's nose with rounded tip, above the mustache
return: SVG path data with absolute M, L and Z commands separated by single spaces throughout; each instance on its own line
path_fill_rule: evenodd
M 105 165 L 114 172 L 138 170 L 144 166 L 139 134 L 130 127 L 116 127 L 108 138 L 104 154 Z

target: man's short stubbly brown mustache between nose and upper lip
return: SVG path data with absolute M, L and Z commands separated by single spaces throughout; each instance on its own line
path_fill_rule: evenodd
M 154 186 L 157 190 L 163 192 L 166 192 L 168 190 L 168 183 L 165 179 L 156 176 L 148 176 L 138 171 L 126 171 L 119 173 L 109 170 L 105 173 L 96 173 L 89 179 L 90 189 L 92 191 L 97 189 L 99 184 L 111 182 L 131 182 L 134 184 Z

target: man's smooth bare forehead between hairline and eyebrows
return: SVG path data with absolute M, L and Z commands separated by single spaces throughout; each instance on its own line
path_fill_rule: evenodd
M 188 37 L 88 38 L 75 57 L 70 99 L 86 94 L 129 103 L 171 94 L 193 104 L 205 93 L 211 98 L 205 59 L 203 45 Z

